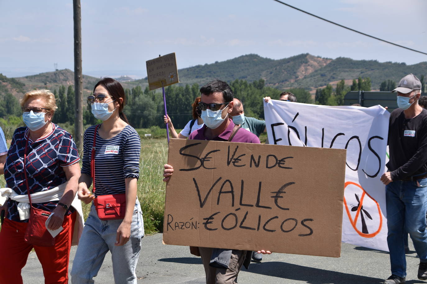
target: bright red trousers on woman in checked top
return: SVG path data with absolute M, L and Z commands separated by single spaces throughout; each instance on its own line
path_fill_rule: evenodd
M 52 247 L 39 247 L 24 241 L 28 223 L 4 220 L 0 231 L 0 284 L 22 284 L 21 270 L 34 248 L 43 268 L 44 283 L 68 283 L 68 261 L 76 212 L 64 216 L 64 229 Z

